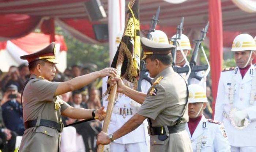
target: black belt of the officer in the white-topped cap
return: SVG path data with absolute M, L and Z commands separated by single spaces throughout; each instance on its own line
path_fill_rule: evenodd
M 180 124 L 176 126 L 167 126 L 169 133 L 177 133 L 185 130 L 185 124 Z M 149 135 L 165 135 L 165 128 L 163 126 L 161 127 L 149 127 L 148 126 L 148 134 Z

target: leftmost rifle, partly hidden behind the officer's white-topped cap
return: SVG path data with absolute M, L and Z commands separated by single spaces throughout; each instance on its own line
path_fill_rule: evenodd
M 148 30 L 147 33 L 147 38 L 148 39 L 152 39 L 151 36 L 151 32 L 155 31 L 155 27 L 157 26 L 157 22 L 159 22 L 158 17 L 159 17 L 159 13 L 160 13 L 160 6 L 157 9 L 157 12 L 155 13 L 155 15 L 153 15 L 152 19 L 151 19 L 151 25 L 150 25 L 150 30 Z M 148 75 L 146 74 L 147 70 L 146 70 L 146 66 L 145 66 L 145 61 L 140 61 L 140 78 L 138 80 L 138 91 L 142 91 L 141 89 L 141 82 L 143 79 L 145 79 L 146 81 L 148 81 L 151 85 L 151 78 L 148 77 Z

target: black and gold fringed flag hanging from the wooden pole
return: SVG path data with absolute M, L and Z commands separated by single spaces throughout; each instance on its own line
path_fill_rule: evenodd
M 131 0 L 128 4 L 128 12 L 125 19 L 124 34 L 112 61 L 111 67 L 116 68 L 118 54 L 124 53 L 121 78 L 134 83 L 136 86 L 140 71 L 140 21 L 139 0 Z

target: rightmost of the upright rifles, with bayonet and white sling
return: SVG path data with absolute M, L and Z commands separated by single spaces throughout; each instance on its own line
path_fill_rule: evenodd
M 192 56 L 191 56 L 191 60 L 190 60 L 190 62 L 189 62 L 189 66 L 190 66 L 190 68 L 191 68 L 191 74 L 189 75 L 189 78 L 188 78 L 188 85 L 190 84 L 192 78 L 196 78 L 196 79 L 199 80 L 199 81 L 201 81 L 201 79 L 203 78 L 203 77 L 198 76 L 198 75 L 196 74 L 196 72 L 204 71 L 204 70 L 210 71 L 210 70 L 209 70 L 210 65 L 209 65 L 209 62 L 208 62 L 208 59 L 207 59 L 205 53 L 204 53 L 204 56 L 205 56 L 205 58 L 206 58 L 206 61 L 207 61 L 207 64 L 208 64 L 208 65 L 202 65 L 202 66 L 197 66 L 197 65 L 196 65 L 196 59 L 197 59 L 197 56 L 198 56 L 198 51 L 199 51 L 199 48 L 200 48 L 200 47 L 201 47 L 201 48 L 203 47 L 201 43 L 204 41 L 204 38 L 205 38 L 206 33 L 207 33 L 207 31 L 208 31 L 208 27 L 209 27 L 209 22 L 207 22 L 206 26 L 205 26 L 205 27 L 203 28 L 203 30 L 201 31 L 201 34 L 200 34 L 199 39 L 197 39 L 197 40 L 194 41 L 194 42 L 196 43 L 196 46 L 195 46 L 195 48 L 194 48 L 193 54 L 192 54 Z M 202 48 L 202 49 L 203 49 L 203 48 Z M 203 52 L 204 52 L 204 50 L 203 50 Z M 208 74 L 208 73 L 207 73 L 207 74 Z

